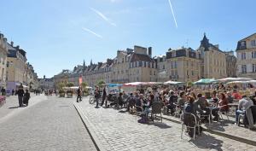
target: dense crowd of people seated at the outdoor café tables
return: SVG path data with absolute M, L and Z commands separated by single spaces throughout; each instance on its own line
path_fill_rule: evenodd
M 125 107 L 127 112 L 131 112 L 131 108 L 136 108 L 137 112 L 141 112 L 147 117 L 152 104 L 162 102 L 166 113 L 171 115 L 175 115 L 175 113 L 193 113 L 198 120 L 205 123 L 209 122 L 208 117 L 210 117 L 210 120 L 219 121 L 220 114 L 229 113 L 230 107 L 233 107 L 230 104 L 234 105 L 235 103 L 236 121 L 234 121 L 234 124 L 239 123 L 239 114 L 247 112 L 248 128 L 255 130 L 253 114 L 250 114 L 248 109 L 256 105 L 256 91 L 251 96 L 246 96 L 241 95 L 239 90 L 231 87 L 225 88 L 220 85 L 218 89 L 204 93 L 185 87 L 177 89 L 153 88 L 151 91 L 137 90 L 129 94 L 119 90 L 117 94 L 108 94 L 107 87 L 103 88 L 102 93 L 99 87 L 96 87 L 94 95 L 96 97 L 96 107 L 99 105 L 103 107 L 105 102 L 105 107 L 117 105 L 120 108 Z M 115 103 L 113 97 L 117 100 Z M 102 103 L 99 103 L 98 100 L 102 100 Z

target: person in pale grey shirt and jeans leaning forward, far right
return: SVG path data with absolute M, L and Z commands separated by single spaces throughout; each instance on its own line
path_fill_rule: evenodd
M 248 123 L 249 123 L 249 129 L 253 130 L 255 129 L 255 127 L 253 126 L 253 115 L 252 115 L 252 110 L 250 107 L 253 106 L 253 101 L 249 98 L 247 98 L 247 96 L 242 96 L 242 99 L 239 101 L 238 104 L 238 109 L 236 110 L 236 124 L 238 124 L 238 116 L 241 113 L 245 113 L 247 112 L 247 119 L 248 119 Z M 251 113 L 249 113 L 251 112 Z

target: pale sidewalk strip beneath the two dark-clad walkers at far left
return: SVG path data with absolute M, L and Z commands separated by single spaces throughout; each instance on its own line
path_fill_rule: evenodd
M 28 107 L 32 107 L 38 102 L 47 100 L 47 97 L 44 95 L 35 96 L 31 94 Z M 7 96 L 6 103 L 3 104 L 3 107 L 0 107 L 0 122 L 3 122 L 5 119 L 9 119 L 10 116 L 20 113 L 22 110 L 28 107 L 19 107 L 18 96 Z

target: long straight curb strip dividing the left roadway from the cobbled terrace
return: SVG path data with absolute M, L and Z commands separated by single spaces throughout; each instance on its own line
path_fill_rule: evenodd
M 98 137 L 96 136 L 95 132 L 90 128 L 90 122 L 88 119 L 84 116 L 84 113 L 82 109 L 79 107 L 79 105 L 73 103 L 73 106 L 76 108 L 77 112 L 79 113 L 79 117 L 82 120 L 85 129 L 88 131 L 90 138 L 92 142 L 94 143 L 97 151 L 105 151 L 106 149 L 102 147 L 102 143 L 98 140 Z

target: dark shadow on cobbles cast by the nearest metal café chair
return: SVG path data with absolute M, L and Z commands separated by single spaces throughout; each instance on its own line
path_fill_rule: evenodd
M 190 140 L 189 142 L 195 144 L 198 148 L 204 149 L 216 149 L 218 151 L 222 151 L 223 141 L 216 139 L 214 136 L 206 135 L 204 133 L 201 134 L 195 140 Z

